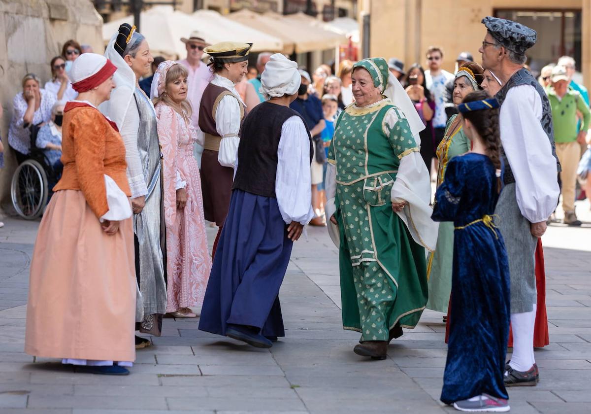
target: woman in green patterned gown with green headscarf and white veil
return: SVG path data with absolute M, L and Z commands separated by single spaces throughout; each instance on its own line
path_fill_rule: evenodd
M 437 224 L 413 103 L 382 58 L 356 63 L 352 80 L 356 103 L 337 119 L 329 150 L 327 217 L 340 250 L 343 328 L 361 332 L 356 354 L 385 359 L 389 340 L 414 328 L 427 303 Z

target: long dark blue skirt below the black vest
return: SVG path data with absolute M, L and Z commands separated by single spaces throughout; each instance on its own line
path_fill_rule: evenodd
M 292 245 L 277 199 L 233 190 L 199 329 L 225 335 L 228 324 L 238 324 L 285 336 L 278 295 Z

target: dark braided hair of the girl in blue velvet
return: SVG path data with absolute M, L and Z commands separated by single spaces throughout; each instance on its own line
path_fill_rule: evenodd
M 491 95 L 486 90 L 476 90 L 475 92 L 468 93 L 462 103 L 484 101 L 490 98 Z M 476 128 L 478 135 L 482 138 L 482 143 L 486 147 L 486 155 L 491 159 L 497 170 L 501 169 L 499 111 L 499 108 L 493 108 L 462 112 L 462 117 L 470 121 Z

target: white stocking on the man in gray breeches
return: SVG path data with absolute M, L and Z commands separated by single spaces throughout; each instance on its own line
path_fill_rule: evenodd
M 513 354 L 509 365 L 516 371 L 527 371 L 535 363 L 534 359 L 534 325 L 535 310 L 523 313 L 511 313 L 511 329 L 513 331 Z

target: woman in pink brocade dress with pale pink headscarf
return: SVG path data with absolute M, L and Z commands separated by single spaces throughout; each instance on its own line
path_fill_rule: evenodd
M 193 157 L 197 130 L 191 124 L 187 70 L 171 60 L 158 66 L 152 82 L 158 137 L 163 154 L 167 253 L 166 312 L 195 318 L 201 308 L 212 260 L 207 249 L 199 166 Z

